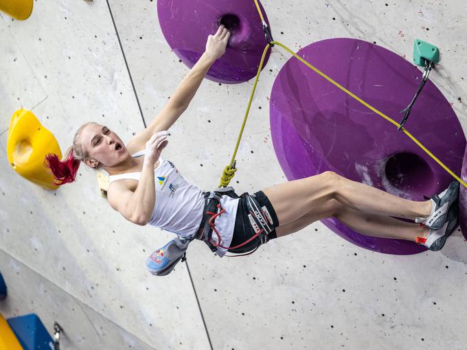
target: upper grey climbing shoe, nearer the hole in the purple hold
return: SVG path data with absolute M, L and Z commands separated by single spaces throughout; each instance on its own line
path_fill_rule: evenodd
M 446 222 L 446 214 L 449 208 L 457 200 L 459 196 L 459 183 L 453 181 L 449 184 L 449 187 L 442 191 L 440 194 L 436 194 L 431 198 L 431 204 L 433 209 L 428 218 L 415 218 L 415 222 L 429 226 L 430 229 L 438 230 L 444 226 Z

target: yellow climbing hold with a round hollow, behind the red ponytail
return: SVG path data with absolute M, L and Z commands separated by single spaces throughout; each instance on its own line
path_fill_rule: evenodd
M 54 176 L 44 166 L 49 153 L 62 157 L 52 132 L 41 125 L 29 110 L 16 110 L 10 121 L 6 152 L 12 168 L 23 178 L 46 189 L 57 189 Z

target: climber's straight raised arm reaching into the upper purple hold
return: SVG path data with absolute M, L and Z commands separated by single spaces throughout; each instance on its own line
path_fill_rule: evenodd
M 151 135 L 161 130 L 168 130 L 179 119 L 201 85 L 209 67 L 225 53 L 229 37 L 230 32 L 223 25 L 218 27 L 216 34 L 208 36 L 206 50 L 201 55 L 201 58 L 199 58 L 190 72 L 183 78 L 166 106 L 151 121 L 150 125 L 130 140 L 127 145 L 128 148 L 135 148 L 135 150 L 142 149 Z

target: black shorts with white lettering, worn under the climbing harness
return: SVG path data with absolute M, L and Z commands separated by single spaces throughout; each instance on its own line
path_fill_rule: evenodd
M 242 244 L 243 242 L 253 237 L 260 230 L 258 224 L 255 224 L 255 221 L 252 220 L 251 215 L 253 213 L 250 213 L 247 206 L 247 200 L 249 196 L 253 197 L 260 204 L 260 213 L 257 213 L 257 215 L 262 216 L 261 220 L 266 220 L 268 224 L 273 226 L 273 230 L 266 237 L 260 234 L 244 246 L 235 249 L 229 249 L 228 251 L 230 253 L 239 254 L 250 252 L 251 250 L 258 248 L 258 246 L 261 244 L 269 242 L 269 240 L 273 240 L 277 237 L 275 228 L 279 226 L 279 221 L 277 220 L 277 215 L 275 214 L 273 205 L 271 205 L 271 202 L 269 202 L 269 198 L 266 197 L 263 191 L 258 191 L 254 194 L 248 194 L 245 192 L 240 196 L 240 201 L 238 202 L 234 236 L 232 237 L 230 246 L 233 247 L 238 246 L 238 244 Z

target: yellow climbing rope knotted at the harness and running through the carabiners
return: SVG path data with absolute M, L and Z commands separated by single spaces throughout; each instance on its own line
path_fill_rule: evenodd
M 256 8 L 258 10 L 258 13 L 260 14 L 260 18 L 261 18 L 261 21 L 263 24 L 265 24 L 266 22 L 264 21 L 264 17 L 262 15 L 262 12 L 261 12 L 261 9 L 260 9 L 260 5 L 258 5 L 258 1 L 257 0 L 253 0 L 255 1 L 255 5 L 256 5 Z M 302 62 L 304 65 L 306 65 L 308 68 L 312 69 L 313 71 L 315 71 L 316 73 L 318 73 L 319 75 L 321 75 L 323 78 L 325 78 L 326 80 L 328 80 L 328 82 L 330 82 L 331 84 L 334 84 L 334 86 L 337 86 L 339 89 L 341 89 L 343 92 L 347 93 L 350 97 L 353 97 L 355 100 L 357 100 L 358 102 L 360 102 L 361 104 L 363 104 L 363 106 L 369 108 L 370 110 L 372 110 L 374 113 L 376 113 L 377 115 L 380 115 L 380 117 L 383 117 L 384 119 L 386 119 L 387 121 L 391 122 L 391 124 L 394 124 L 395 126 L 399 127 L 400 124 L 397 122 L 397 121 L 394 121 L 394 119 L 391 119 L 390 117 L 388 117 L 387 115 L 385 115 L 384 113 L 380 112 L 379 110 L 377 110 L 376 108 L 374 108 L 373 106 L 371 106 L 370 104 L 368 104 L 367 102 L 363 101 L 360 97 L 356 96 L 354 93 L 352 93 L 351 91 L 349 91 L 348 89 L 345 89 L 344 86 L 342 86 L 341 84 L 339 84 L 338 82 L 335 82 L 334 80 L 332 80 L 330 77 L 328 77 L 328 75 L 326 75 L 325 73 L 323 73 L 322 71 L 320 71 L 319 69 L 317 69 L 316 67 L 312 66 L 309 62 L 307 62 L 306 60 L 304 60 L 303 58 L 301 58 L 300 56 L 298 56 L 297 54 L 295 54 L 295 52 L 293 52 L 291 49 L 289 49 L 288 47 L 286 47 L 286 45 L 278 42 L 278 41 L 275 41 L 273 40 L 271 42 L 271 45 L 278 45 L 280 47 L 282 47 L 284 50 L 286 50 L 289 54 L 291 54 L 292 56 L 294 56 L 295 58 L 297 58 L 297 60 L 299 60 L 300 62 Z M 244 119 L 243 119 L 243 124 L 242 124 L 242 128 L 240 129 L 240 133 L 238 135 L 238 140 L 237 140 L 237 144 L 236 144 L 236 148 L 235 148 L 235 151 L 234 151 L 234 154 L 232 155 L 232 159 L 231 159 L 231 162 L 230 162 L 230 165 L 227 165 L 227 167 L 225 167 L 224 169 L 224 172 L 223 172 L 223 176 L 222 178 L 220 179 L 220 186 L 228 186 L 229 185 L 229 182 L 231 180 L 231 178 L 234 177 L 235 175 L 235 172 L 236 172 L 236 167 L 235 167 L 235 156 L 236 156 L 236 153 L 237 153 L 237 150 L 238 150 L 238 145 L 240 144 L 240 139 L 242 138 L 242 133 L 243 133 L 243 129 L 244 129 L 244 126 L 247 122 L 247 118 L 248 118 L 248 113 L 249 113 L 249 110 L 250 110 L 250 106 L 251 106 L 251 101 L 253 100 L 253 95 L 255 94 L 255 89 L 256 89 L 256 84 L 258 82 L 258 78 L 260 77 L 260 72 L 261 72 L 261 69 L 262 69 L 262 65 L 264 63 L 264 57 L 266 56 L 266 53 L 269 49 L 269 47 L 271 47 L 271 45 L 269 45 L 269 43 L 266 45 L 266 47 L 264 47 L 264 51 L 263 51 L 263 54 L 262 54 L 262 57 L 261 57 L 261 62 L 260 62 L 260 66 L 258 67 L 258 73 L 256 73 L 256 78 L 255 78 L 255 83 L 253 84 L 253 89 L 251 91 L 251 95 L 250 95 L 250 100 L 248 102 L 248 106 L 247 106 L 247 112 L 245 113 L 245 116 L 244 116 Z M 426 154 L 428 154 L 429 156 L 431 156 L 432 159 L 434 159 L 439 165 L 441 165 L 444 170 L 446 170 L 446 172 L 448 172 L 449 174 L 451 174 L 451 176 L 453 176 L 453 178 L 455 178 L 457 181 L 459 181 L 459 183 L 462 183 L 462 185 L 464 185 L 464 187 L 467 187 L 467 183 L 465 183 L 461 178 L 459 178 L 459 176 L 457 176 L 456 174 L 454 174 L 454 172 L 452 172 L 448 167 L 446 167 L 446 165 L 444 165 L 444 163 L 442 161 L 440 161 L 440 159 L 437 159 L 437 157 L 430 152 L 430 150 L 428 150 L 428 148 L 426 148 L 424 145 L 422 145 L 422 143 L 420 141 L 418 141 L 418 139 L 416 139 L 413 135 L 411 135 L 410 132 L 407 131 L 406 128 L 402 127 L 400 130 L 402 130 L 402 132 L 405 133 L 405 135 L 407 135 L 413 142 L 415 142 L 420 148 L 422 148 L 422 150 L 424 150 L 424 152 L 426 152 Z

